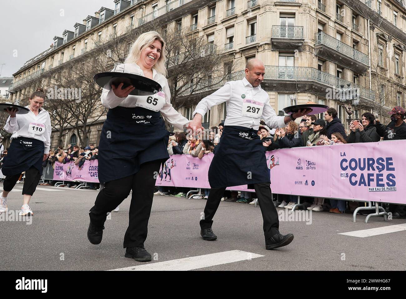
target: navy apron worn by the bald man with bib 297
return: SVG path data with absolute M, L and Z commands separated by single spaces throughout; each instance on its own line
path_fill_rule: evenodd
M 212 188 L 270 183 L 265 150 L 258 131 L 225 126 L 209 167 Z

